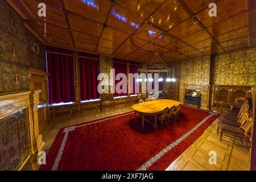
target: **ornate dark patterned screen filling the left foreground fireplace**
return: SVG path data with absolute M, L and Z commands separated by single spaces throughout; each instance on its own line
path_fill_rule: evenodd
M 0 120 L 0 171 L 16 170 L 28 156 L 28 133 L 23 110 Z

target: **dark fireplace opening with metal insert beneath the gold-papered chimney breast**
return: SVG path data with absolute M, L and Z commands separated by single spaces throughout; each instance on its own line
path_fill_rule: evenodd
M 184 104 L 200 108 L 202 90 L 185 89 Z

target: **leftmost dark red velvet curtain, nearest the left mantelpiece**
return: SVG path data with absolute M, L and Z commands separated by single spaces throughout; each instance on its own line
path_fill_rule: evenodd
M 47 52 L 49 104 L 74 102 L 73 56 Z

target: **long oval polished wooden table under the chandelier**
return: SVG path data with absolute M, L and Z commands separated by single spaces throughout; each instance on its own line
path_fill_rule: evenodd
M 142 102 L 133 105 L 133 110 L 135 111 L 135 122 L 136 122 L 136 115 L 139 113 L 142 117 L 142 127 L 144 127 L 144 121 L 151 123 L 154 126 L 154 129 L 158 128 L 157 125 L 157 115 L 162 113 L 165 107 L 171 107 L 173 105 L 177 106 L 180 105 L 181 102 L 175 100 L 168 100 L 168 99 L 159 99 L 154 101 Z M 144 118 L 145 115 L 154 115 L 155 122 L 152 123 Z

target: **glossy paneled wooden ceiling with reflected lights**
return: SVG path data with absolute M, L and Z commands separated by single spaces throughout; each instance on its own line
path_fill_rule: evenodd
M 255 0 L 7 2 L 46 45 L 122 59 L 148 61 L 150 51 L 158 49 L 165 60 L 183 60 L 255 46 Z M 38 16 L 40 2 L 47 5 L 46 18 Z M 216 17 L 208 15 L 211 2 L 217 5 Z M 148 39 L 149 30 L 157 36 Z

